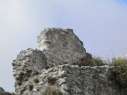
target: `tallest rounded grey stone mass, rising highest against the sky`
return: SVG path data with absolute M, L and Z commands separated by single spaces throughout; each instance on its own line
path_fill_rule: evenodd
M 48 28 L 38 36 L 40 50 L 47 56 L 50 66 L 72 64 L 83 56 L 86 50 L 72 29 Z

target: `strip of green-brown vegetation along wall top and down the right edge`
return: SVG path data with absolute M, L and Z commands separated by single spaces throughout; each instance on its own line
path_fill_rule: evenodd
M 110 65 L 109 79 L 114 81 L 120 88 L 127 88 L 127 59 L 125 58 L 114 58 L 111 64 L 102 60 L 99 57 L 84 58 L 81 61 L 83 66 L 103 66 Z

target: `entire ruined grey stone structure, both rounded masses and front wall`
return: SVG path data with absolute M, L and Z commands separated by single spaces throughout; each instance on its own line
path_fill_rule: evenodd
M 48 77 L 58 79 L 63 95 L 127 95 L 108 78 L 111 67 L 78 65 L 87 53 L 72 29 L 45 29 L 38 44 L 13 61 L 16 95 L 42 95 Z

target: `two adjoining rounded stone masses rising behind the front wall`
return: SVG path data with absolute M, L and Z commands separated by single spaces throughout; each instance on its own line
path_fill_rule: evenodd
M 13 61 L 16 92 L 19 92 L 19 87 L 32 76 L 39 74 L 42 69 L 72 64 L 86 56 L 83 43 L 72 29 L 45 29 L 38 36 L 38 44 L 39 50 L 31 48 L 23 50 Z

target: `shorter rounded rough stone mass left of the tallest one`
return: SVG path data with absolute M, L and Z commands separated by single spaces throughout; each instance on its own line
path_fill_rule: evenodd
M 29 48 L 21 51 L 12 64 L 17 92 L 20 85 L 23 85 L 31 76 L 39 74 L 43 68 L 46 68 L 47 59 L 42 51 Z

